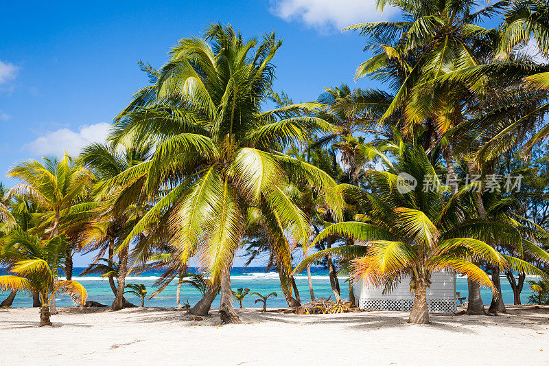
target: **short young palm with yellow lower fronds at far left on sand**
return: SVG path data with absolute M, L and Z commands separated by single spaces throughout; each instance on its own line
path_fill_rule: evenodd
M 15 229 L 2 238 L 2 263 L 14 275 L 0 276 L 0 291 L 38 293 L 40 297 L 40 326 L 51 325 L 49 306 L 61 291 L 84 306 L 86 289 L 78 282 L 58 280 L 57 268 L 65 258 L 67 242 L 60 236 L 39 240 L 21 229 Z

